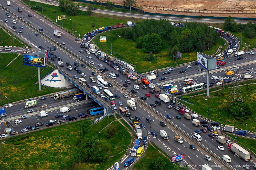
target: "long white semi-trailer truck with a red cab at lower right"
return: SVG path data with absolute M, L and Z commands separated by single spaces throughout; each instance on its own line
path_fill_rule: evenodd
M 243 149 L 237 143 L 232 143 L 228 145 L 228 150 L 231 151 L 233 154 L 238 155 L 244 161 L 249 161 L 251 159 L 251 154 L 247 150 Z

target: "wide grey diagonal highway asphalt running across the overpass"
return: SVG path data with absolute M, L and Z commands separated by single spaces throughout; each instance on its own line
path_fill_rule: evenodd
M 17 2 L 17 1 L 15 1 Z M 14 3 L 12 1 L 12 3 Z M 82 59 L 84 59 L 86 61 L 86 63 L 88 64 L 89 61 L 92 61 L 90 59 L 87 59 L 86 58 L 86 54 L 80 54 L 78 51 L 81 49 L 80 48 L 80 45 L 74 41 L 74 38 L 72 35 L 68 34 L 65 30 L 61 30 L 60 28 L 57 28 L 58 30 L 60 30 L 62 32 L 62 36 L 60 38 L 55 38 L 53 35 L 52 35 L 52 32 L 54 29 L 56 29 L 56 26 L 52 26 L 51 23 L 48 23 L 47 20 L 45 20 L 44 18 L 40 17 L 40 16 L 37 16 L 37 14 L 35 14 L 34 12 L 30 11 L 29 9 L 26 9 L 26 7 L 24 8 L 24 6 L 22 4 L 20 4 L 20 2 L 17 2 L 19 5 L 17 6 L 22 6 L 23 7 L 23 12 L 22 12 L 22 15 L 24 16 L 24 18 L 22 20 L 24 20 L 25 22 L 27 22 L 28 20 L 33 20 L 33 25 L 31 25 L 31 27 L 34 27 L 34 28 L 43 28 L 44 31 L 43 32 L 37 32 L 40 34 L 40 36 L 35 36 L 35 31 L 33 29 L 31 29 L 31 27 L 26 27 L 26 25 L 23 25 L 24 29 L 23 29 L 23 36 L 25 38 L 29 38 L 28 37 L 28 33 L 33 36 L 33 38 L 31 39 L 30 37 L 30 40 L 33 42 L 33 44 L 35 44 L 36 46 L 39 46 L 39 45 L 43 45 L 45 47 L 45 49 L 49 49 L 50 46 L 53 46 L 53 44 L 51 42 L 49 42 L 47 39 L 45 39 L 43 36 L 41 36 L 42 33 L 44 33 L 45 35 L 51 37 L 51 38 L 54 38 L 54 40 L 58 41 L 59 43 L 64 41 L 66 42 L 66 47 L 71 50 L 74 55 L 76 56 L 79 56 L 81 57 Z M 1 5 L 2 4 L 6 4 L 6 1 L 1 1 Z M 10 11 L 12 11 L 14 14 L 16 15 L 20 15 L 18 12 L 17 12 L 17 9 L 16 9 L 16 6 L 13 6 L 11 5 L 10 7 L 7 7 Z M 29 10 L 29 11 L 26 11 L 26 10 Z M 0 19 L 3 21 L 6 17 L 5 15 L 5 12 L 2 8 L 1 8 L 1 17 Z M 32 14 L 32 18 L 28 18 L 27 17 L 27 14 L 31 13 Z M 9 21 L 12 21 L 13 20 L 13 17 L 11 15 L 11 18 L 9 18 L 8 20 Z M 38 17 L 40 19 L 35 19 L 35 17 Z M 14 19 L 17 21 L 17 17 L 14 17 Z M 19 22 L 19 21 L 18 21 Z M 47 23 L 47 24 L 46 24 Z M 2 25 L 3 23 L 1 23 Z M 12 26 L 12 23 L 9 22 L 7 23 L 9 26 Z M 18 24 L 16 24 L 18 25 Z M 55 28 L 54 28 L 55 27 Z M 11 30 L 11 29 L 10 29 Z M 13 32 L 13 31 L 12 31 Z M 47 32 L 49 34 L 47 34 Z M 16 34 L 16 33 L 14 33 Z M 58 55 L 58 57 L 61 57 L 62 60 L 63 60 L 63 63 L 65 62 L 75 62 L 77 61 L 76 58 L 74 58 L 73 56 L 70 56 L 68 53 L 66 53 L 65 51 L 63 51 L 62 49 L 58 49 L 56 55 Z M 103 64 L 103 68 L 104 67 L 108 67 L 108 65 L 106 65 L 106 63 L 103 63 L 102 61 L 100 61 L 99 59 L 97 59 L 95 56 L 91 55 L 93 57 L 93 61 L 95 62 L 95 67 L 97 67 L 97 64 L 101 63 Z M 50 62 L 52 62 L 51 60 L 49 60 Z M 81 64 L 81 62 L 79 62 Z M 115 71 L 114 69 L 109 68 L 109 71 L 106 71 L 104 72 L 103 74 L 108 74 L 110 72 L 117 72 Z M 64 67 L 65 69 L 65 67 Z M 87 80 L 89 75 L 91 74 L 91 70 L 88 69 L 88 68 L 81 68 L 79 67 L 79 69 L 84 72 L 86 75 L 87 75 Z M 72 71 L 67 71 L 67 73 L 70 75 L 70 76 L 73 76 L 73 75 L 78 75 L 76 73 L 76 71 L 72 70 Z M 78 77 L 81 77 L 80 75 L 78 75 Z M 116 78 L 115 81 L 117 82 L 120 82 L 120 84 L 123 84 L 124 80 L 126 80 L 126 76 L 123 76 L 122 74 L 120 74 L 119 77 Z M 89 81 L 88 81 L 89 82 Z M 131 84 L 129 84 L 129 86 L 127 87 L 128 90 L 132 89 L 132 86 L 135 84 L 135 82 L 132 82 Z M 120 99 L 115 99 L 115 102 L 117 101 L 122 101 L 124 106 L 126 106 L 126 101 L 127 99 L 123 97 L 122 95 L 122 92 L 120 91 L 119 88 L 116 88 L 116 87 L 109 87 L 109 89 L 115 94 L 115 93 L 118 93 L 120 95 Z M 136 94 L 138 97 L 141 97 L 143 96 L 145 93 L 148 93 L 149 89 L 140 89 L 138 90 L 138 93 Z M 129 97 L 131 97 L 130 94 L 128 94 Z M 48 100 L 48 99 L 47 99 Z M 146 103 L 150 104 L 150 103 L 153 103 L 154 101 L 156 100 L 156 98 L 154 96 L 151 96 L 149 97 L 147 100 L 146 100 Z M 110 105 L 109 105 L 110 106 Z M 159 114 L 161 114 L 163 117 L 168 113 L 168 114 L 171 114 L 173 116 L 175 115 L 178 115 L 177 111 L 174 111 L 173 109 L 168 109 L 166 108 L 166 106 L 164 104 L 162 104 L 161 106 L 157 106 L 156 107 L 156 111 L 159 112 Z M 150 126 L 148 123 L 145 122 L 145 119 L 146 117 L 151 117 L 152 120 L 154 120 L 154 122 L 151 124 L 151 130 L 154 130 L 156 131 L 157 133 L 159 133 L 159 130 L 161 129 L 165 129 L 166 132 L 168 133 L 168 136 L 169 136 L 169 139 L 168 141 L 165 141 L 163 140 L 159 134 L 158 136 L 155 138 L 155 137 L 152 137 L 152 141 L 154 143 L 156 143 L 156 145 L 158 147 L 160 147 L 161 149 L 165 150 L 167 153 L 169 153 L 169 155 L 172 155 L 172 154 L 178 154 L 178 153 L 182 153 L 184 152 L 184 154 L 187 156 L 185 158 L 185 161 L 187 164 L 189 165 L 201 165 L 201 164 L 209 164 L 209 165 L 217 165 L 216 162 L 214 161 L 211 161 L 211 162 L 207 162 L 205 159 L 204 159 L 204 151 L 202 150 L 194 150 L 192 151 L 191 149 L 189 149 L 189 144 L 190 142 L 188 141 L 185 141 L 183 144 L 181 145 L 178 145 L 173 137 L 176 136 L 177 134 L 179 134 L 179 132 L 174 132 L 171 128 L 168 127 L 168 125 L 166 127 L 161 127 L 159 125 L 159 118 L 158 116 L 155 116 L 153 115 L 152 113 L 146 111 L 144 108 L 142 108 L 139 104 L 137 105 L 137 110 L 136 111 L 131 111 L 132 113 L 132 116 L 135 116 L 135 115 L 138 115 L 141 117 L 142 121 L 140 123 L 144 123 L 146 125 L 146 128 L 145 130 L 143 129 L 143 136 L 145 134 L 147 134 L 147 131 L 150 131 Z M 29 118 L 30 119 L 30 118 Z M 49 118 L 47 118 L 49 119 Z M 129 118 L 124 118 L 125 121 L 128 122 Z M 201 119 L 199 119 L 201 120 Z M 176 120 L 175 117 L 173 117 L 173 119 L 171 120 L 168 120 L 170 122 L 172 122 L 173 124 L 176 124 L 178 127 L 180 127 L 180 130 L 184 131 L 185 133 L 189 134 L 191 136 L 192 133 L 194 133 L 194 129 L 196 129 L 189 121 L 187 120 L 184 120 L 183 117 L 182 119 L 180 120 Z M 221 159 L 221 156 L 223 154 L 228 154 L 231 159 L 232 159 L 232 162 L 230 163 L 230 165 L 242 165 L 244 164 L 244 161 L 242 161 L 241 159 L 239 158 L 236 158 L 235 156 L 233 156 L 231 154 L 231 152 L 229 152 L 227 150 L 227 146 L 225 145 L 225 150 L 224 151 L 220 151 L 220 150 L 216 150 L 215 147 L 217 145 L 217 142 L 214 141 L 214 140 L 211 140 L 209 137 L 208 137 L 208 133 L 204 133 L 204 134 L 201 134 L 202 136 L 202 141 L 200 143 L 202 143 L 204 145 L 204 147 L 208 150 L 209 152 L 209 155 L 212 155 L 212 154 L 216 154 L 218 155 L 219 159 Z M 194 141 L 193 142 L 196 146 L 199 145 L 199 142 L 196 142 Z M 184 149 L 186 148 L 186 149 Z M 198 158 L 197 158 L 198 157 Z M 194 159 L 196 158 L 196 159 Z M 253 157 L 253 161 L 255 161 L 255 158 Z M 251 161 L 249 162 L 246 162 L 247 164 L 250 164 L 250 165 L 253 165 L 253 163 Z M 193 169 L 193 168 L 192 168 Z M 195 169 L 200 169 L 200 167 L 195 167 Z M 213 168 L 213 169 L 219 169 L 218 168 Z M 237 169 L 237 168 L 236 168 Z M 239 169 L 242 169 L 242 168 L 239 168 Z

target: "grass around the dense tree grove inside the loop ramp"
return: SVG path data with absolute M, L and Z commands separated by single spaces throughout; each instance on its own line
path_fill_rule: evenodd
M 151 64 L 149 67 L 148 59 L 147 59 L 148 54 L 145 53 L 143 49 L 136 48 L 136 43 L 133 40 L 125 39 L 123 37 L 118 37 L 118 35 L 120 35 L 120 29 L 101 33 L 100 35 L 97 35 L 96 38 L 99 38 L 99 36 L 102 36 L 102 35 L 107 36 L 107 42 L 102 43 L 103 51 L 107 54 L 110 54 L 111 52 L 110 42 L 112 42 L 113 56 L 120 60 L 133 64 L 135 70 L 139 73 L 144 73 L 150 70 L 173 66 L 173 59 L 172 57 L 168 56 L 168 44 L 165 44 L 163 46 L 160 53 L 154 54 L 154 56 L 157 59 L 155 61 L 151 61 Z M 99 42 L 99 40 L 95 39 L 94 41 L 95 41 L 95 44 L 99 47 L 99 49 L 101 49 L 101 43 Z M 212 46 L 209 50 L 205 50 L 203 53 L 212 55 L 216 53 L 216 51 L 219 48 L 219 45 L 225 46 L 225 40 L 223 40 L 220 37 L 216 45 Z M 174 63 L 179 65 L 182 63 L 187 63 L 195 60 L 197 60 L 197 52 L 193 51 L 191 53 L 183 53 L 182 60 L 177 59 L 177 63 L 175 63 L 175 61 Z

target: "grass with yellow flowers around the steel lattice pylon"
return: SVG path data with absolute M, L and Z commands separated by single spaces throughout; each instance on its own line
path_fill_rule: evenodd
M 250 83 L 250 81 L 244 81 L 243 83 Z M 251 80 L 251 82 L 255 83 L 255 80 Z M 231 85 L 227 85 L 225 87 L 229 87 Z M 241 120 L 236 120 L 235 117 L 231 117 L 229 112 L 226 110 L 229 104 L 229 94 L 230 88 L 222 89 L 220 91 L 210 93 L 210 97 L 206 97 L 206 95 L 200 95 L 195 97 L 190 97 L 188 100 L 189 103 L 185 103 L 187 107 L 194 110 L 195 112 L 199 113 L 202 116 L 208 117 L 208 102 L 209 102 L 209 117 L 213 121 L 217 121 L 224 125 L 231 125 L 235 126 L 233 120 L 237 121 L 237 128 L 239 129 L 246 129 L 255 132 L 255 88 L 256 84 L 240 86 L 241 94 L 243 98 L 243 102 L 247 102 L 252 109 L 252 115 L 250 115 L 249 119 L 245 119 L 240 117 Z M 217 94 L 217 96 L 214 96 Z M 194 93 L 193 95 L 196 95 Z M 220 95 L 220 96 L 219 96 Z M 189 94 L 192 96 L 192 94 Z M 205 100 L 207 99 L 207 100 Z M 200 103 L 198 106 L 197 103 Z M 246 123 L 248 124 L 246 127 Z

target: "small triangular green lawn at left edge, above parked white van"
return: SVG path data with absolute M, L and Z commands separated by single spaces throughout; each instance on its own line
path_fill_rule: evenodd
M 9 34 L 7 34 L 4 30 L 6 30 L 7 32 L 9 32 L 9 34 L 11 34 L 11 36 Z M 25 44 L 24 42 L 22 42 L 19 38 L 17 38 L 16 36 L 14 36 L 10 31 L 8 31 L 5 28 L 0 29 L 0 46 L 16 46 L 16 47 L 28 47 L 27 44 Z

